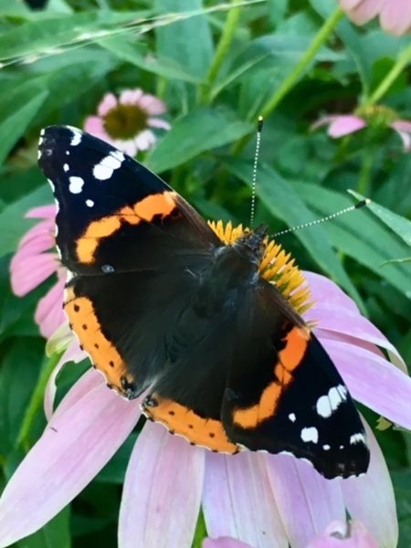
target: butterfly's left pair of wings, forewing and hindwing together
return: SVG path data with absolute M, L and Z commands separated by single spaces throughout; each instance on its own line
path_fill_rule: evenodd
M 134 397 L 163 367 L 193 270 L 221 242 L 159 177 L 87 133 L 47 128 L 38 163 L 58 204 L 68 320 L 109 385 Z

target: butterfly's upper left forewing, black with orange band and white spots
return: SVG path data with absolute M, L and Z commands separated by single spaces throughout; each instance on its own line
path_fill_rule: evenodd
M 72 272 L 164 268 L 170 255 L 219 242 L 160 177 L 88 133 L 48 127 L 38 164 L 54 190 L 57 244 Z

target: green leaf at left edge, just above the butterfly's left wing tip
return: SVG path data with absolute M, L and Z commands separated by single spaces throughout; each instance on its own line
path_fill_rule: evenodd
M 44 79 L 30 80 L 18 90 L 16 83 L 11 82 L 0 93 L 0 163 L 20 139 L 30 121 L 36 116 L 46 100 Z

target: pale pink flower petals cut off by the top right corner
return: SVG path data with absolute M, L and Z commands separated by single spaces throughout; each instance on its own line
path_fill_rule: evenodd
M 382 28 L 395 36 L 411 31 L 409 0 L 339 0 L 342 9 L 356 24 L 364 25 L 380 17 Z

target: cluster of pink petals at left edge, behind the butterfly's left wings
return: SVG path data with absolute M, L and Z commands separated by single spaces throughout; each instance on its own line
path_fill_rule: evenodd
M 66 269 L 60 267 L 55 250 L 56 206 L 35 207 L 26 213 L 26 217 L 41 221 L 26 232 L 18 245 L 10 264 L 11 285 L 13 292 L 23 297 L 57 274 L 56 283 L 38 302 L 35 314 L 41 334 L 48 338 L 66 319 L 62 309 Z

